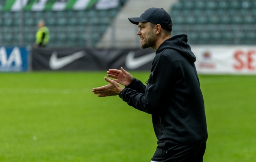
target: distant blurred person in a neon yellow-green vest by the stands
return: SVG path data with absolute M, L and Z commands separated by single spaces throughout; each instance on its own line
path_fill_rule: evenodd
M 50 40 L 50 31 L 42 20 L 38 22 L 37 27 L 38 31 L 36 34 L 35 48 L 46 47 L 48 41 Z

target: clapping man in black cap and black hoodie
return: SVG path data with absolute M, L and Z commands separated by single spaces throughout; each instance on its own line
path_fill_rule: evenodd
M 158 147 L 151 162 L 202 162 L 208 137 L 204 100 L 187 35 L 171 37 L 172 20 L 164 9 L 150 8 L 129 20 L 139 26 L 141 48 L 156 50 L 146 86 L 123 68 L 110 69 L 107 76 L 115 80 L 105 77 L 110 84 L 92 92 L 119 95 L 152 114 Z

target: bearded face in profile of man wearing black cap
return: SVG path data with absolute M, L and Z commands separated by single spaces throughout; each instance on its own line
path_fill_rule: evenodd
M 154 28 L 151 28 L 150 22 L 139 23 L 139 38 L 141 38 L 141 48 L 145 49 L 153 47 L 156 44 L 156 34 L 154 34 Z

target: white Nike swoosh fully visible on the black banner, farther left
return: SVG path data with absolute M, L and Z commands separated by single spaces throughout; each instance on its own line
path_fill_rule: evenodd
M 85 51 L 79 51 L 71 55 L 67 55 L 62 58 L 57 58 L 57 52 L 54 51 L 50 57 L 49 66 L 52 70 L 58 70 L 75 60 L 82 58 L 85 55 Z

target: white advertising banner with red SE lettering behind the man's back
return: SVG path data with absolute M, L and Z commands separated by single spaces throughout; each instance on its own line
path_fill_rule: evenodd
M 256 46 L 191 46 L 198 74 L 255 74 Z

